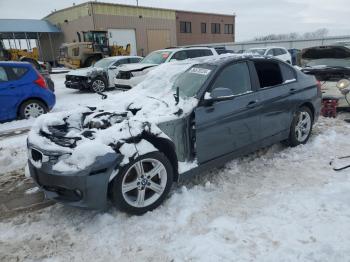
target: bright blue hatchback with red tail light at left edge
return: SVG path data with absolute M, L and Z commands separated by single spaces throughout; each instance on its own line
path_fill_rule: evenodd
M 30 63 L 0 61 L 0 121 L 35 118 L 55 103 L 55 94 Z

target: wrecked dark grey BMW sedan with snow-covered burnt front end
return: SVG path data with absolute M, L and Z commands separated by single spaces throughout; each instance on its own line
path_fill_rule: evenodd
M 225 56 L 164 64 L 105 101 L 40 117 L 30 175 L 50 199 L 143 214 L 183 177 L 276 142 L 306 143 L 321 92 L 280 60 Z

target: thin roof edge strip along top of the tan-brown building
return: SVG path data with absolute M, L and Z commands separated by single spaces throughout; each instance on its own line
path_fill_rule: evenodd
M 112 5 L 112 6 L 123 6 L 123 7 L 133 7 L 133 8 L 144 8 L 144 9 L 151 9 L 151 10 L 161 10 L 161 11 L 173 11 L 173 12 L 183 12 L 183 13 L 193 13 L 193 14 L 206 14 L 206 15 L 220 15 L 220 16 L 229 16 L 229 17 L 235 17 L 236 14 L 232 13 L 232 14 L 222 14 L 222 13 L 210 13 L 210 12 L 200 12 L 200 11 L 191 11 L 191 10 L 177 10 L 177 9 L 170 9 L 170 8 L 158 8 L 158 7 L 151 7 L 151 6 L 136 6 L 136 5 L 127 5 L 127 4 L 119 4 L 119 3 L 106 3 L 106 2 L 92 2 L 92 1 L 88 1 L 85 3 L 81 3 L 78 5 L 73 5 L 73 6 L 69 6 L 54 12 L 51 12 L 50 14 L 48 14 L 47 16 L 43 17 L 43 19 L 50 17 L 51 15 L 54 15 L 56 13 L 62 12 L 62 11 L 66 11 L 69 9 L 74 9 L 76 7 L 80 7 L 80 6 L 84 6 L 84 5 Z

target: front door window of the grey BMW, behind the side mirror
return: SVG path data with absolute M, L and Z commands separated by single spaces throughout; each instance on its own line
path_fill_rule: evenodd
M 252 91 L 247 63 L 237 63 L 225 67 L 215 79 L 212 90 L 218 87 L 230 88 L 234 95 Z

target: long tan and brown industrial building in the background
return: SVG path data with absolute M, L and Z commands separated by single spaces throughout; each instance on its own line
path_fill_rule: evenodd
M 78 32 L 108 31 L 109 44 L 131 46 L 132 55 L 146 55 L 171 46 L 234 42 L 235 15 L 209 14 L 87 2 L 54 11 L 44 20 L 57 26 L 62 37 L 54 43 L 79 41 Z

